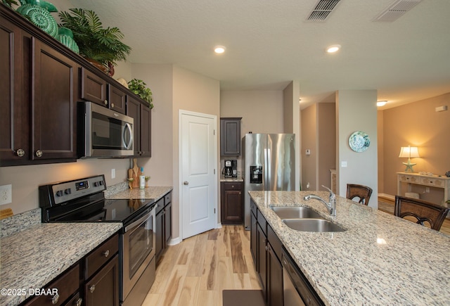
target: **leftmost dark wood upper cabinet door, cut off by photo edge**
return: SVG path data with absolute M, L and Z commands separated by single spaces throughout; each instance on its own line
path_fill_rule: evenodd
M 0 165 L 27 160 L 30 136 L 30 39 L 0 18 Z

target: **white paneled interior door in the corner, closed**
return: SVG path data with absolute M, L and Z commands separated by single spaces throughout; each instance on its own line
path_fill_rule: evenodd
M 214 229 L 217 208 L 217 117 L 180 111 L 183 238 Z

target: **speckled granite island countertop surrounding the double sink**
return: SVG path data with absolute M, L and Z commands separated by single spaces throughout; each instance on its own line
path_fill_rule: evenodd
M 326 305 L 450 305 L 450 236 L 340 196 L 336 217 L 303 200 L 325 191 L 249 193 Z M 347 231 L 295 231 L 271 205 L 308 206 Z

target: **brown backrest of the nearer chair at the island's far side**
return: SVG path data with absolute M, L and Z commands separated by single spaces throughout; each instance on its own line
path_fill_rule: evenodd
M 428 222 L 430 227 L 437 231 L 441 229 L 448 212 L 449 208 L 425 200 L 395 196 L 394 215 L 401 218 L 415 217 L 417 224 L 423 225 L 423 222 Z

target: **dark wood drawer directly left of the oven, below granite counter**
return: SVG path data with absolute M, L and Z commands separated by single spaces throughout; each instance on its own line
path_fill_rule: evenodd
M 103 243 L 86 256 L 84 275 L 86 279 L 92 276 L 103 264 L 108 262 L 119 251 L 119 235 Z

